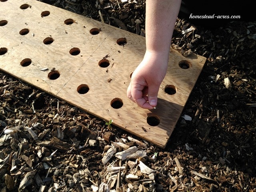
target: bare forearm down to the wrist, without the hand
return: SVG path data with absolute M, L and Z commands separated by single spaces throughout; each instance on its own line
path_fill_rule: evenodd
M 169 55 L 181 0 L 146 0 L 146 49 Z

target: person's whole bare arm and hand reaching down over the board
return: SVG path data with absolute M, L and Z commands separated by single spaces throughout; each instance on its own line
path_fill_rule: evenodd
M 181 0 L 146 0 L 146 53 L 127 89 L 128 98 L 142 108 L 153 109 L 157 105 L 180 3 Z

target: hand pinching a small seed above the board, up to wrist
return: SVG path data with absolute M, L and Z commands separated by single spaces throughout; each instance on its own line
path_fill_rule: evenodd
M 142 62 L 132 73 L 127 96 L 141 108 L 156 107 L 158 90 L 166 75 L 168 56 L 146 51 Z

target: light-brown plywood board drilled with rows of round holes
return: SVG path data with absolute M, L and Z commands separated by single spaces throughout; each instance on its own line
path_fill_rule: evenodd
M 158 106 L 145 110 L 126 97 L 145 48 L 142 36 L 36 0 L 0 1 L 1 70 L 164 148 L 206 58 L 171 50 Z

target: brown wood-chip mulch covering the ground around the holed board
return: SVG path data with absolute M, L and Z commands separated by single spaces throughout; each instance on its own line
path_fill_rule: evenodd
M 145 34 L 144 0 L 41 1 Z M 256 22 L 178 18 L 172 45 L 207 61 L 165 149 L 0 72 L 0 192 L 256 192 Z M 103 164 L 120 143 L 144 154 Z

